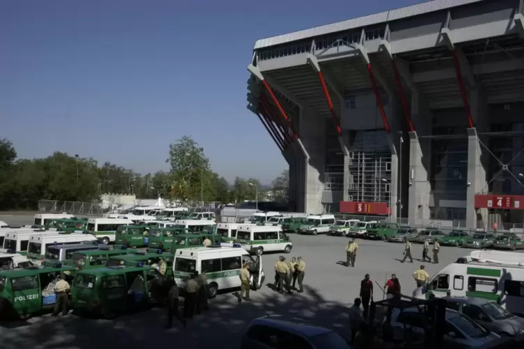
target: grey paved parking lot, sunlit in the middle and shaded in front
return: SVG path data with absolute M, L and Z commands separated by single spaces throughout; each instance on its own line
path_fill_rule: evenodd
M 29 224 L 32 217 L 0 216 L 10 225 Z M 344 246 L 347 238 L 333 236 L 291 235 L 294 249 L 285 257 L 302 256 L 306 263 L 305 293 L 280 295 L 266 283 L 260 291 L 252 294 L 253 302 L 237 304 L 231 293 L 219 295 L 211 300 L 212 310 L 197 316 L 185 330 L 164 330 L 164 311 L 153 309 L 138 314 L 122 316 L 116 320 L 90 320 L 68 315 L 65 318 L 42 316 L 29 323 L 0 327 L 2 348 L 116 348 L 131 346 L 140 348 L 150 343 L 188 344 L 192 348 L 216 347 L 217 343 L 237 348 L 239 336 L 248 322 L 266 314 L 292 315 L 332 327 L 344 334 L 347 327 L 347 307 L 358 297 L 360 280 L 365 273 L 383 285 L 386 277 L 396 273 L 402 285 L 402 293 L 410 294 L 414 289 L 411 274 L 420 266 L 420 261 L 399 263 L 404 246 L 382 241 L 358 241 L 359 250 L 355 268 L 340 265 L 345 260 Z M 469 250 L 442 247 L 440 264 L 424 263 L 430 275 L 438 273 L 457 257 Z M 413 257 L 422 258 L 422 245 L 413 244 Z M 262 257 L 266 281 L 274 277 L 273 264 L 279 254 Z M 376 286 L 376 285 L 375 285 Z M 383 293 L 376 286 L 375 300 Z

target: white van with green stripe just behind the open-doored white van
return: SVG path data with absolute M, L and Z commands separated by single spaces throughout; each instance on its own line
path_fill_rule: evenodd
M 240 225 L 237 229 L 236 243 L 240 243 L 250 253 L 261 255 L 264 252 L 291 252 L 293 243 L 280 227 L 267 225 Z

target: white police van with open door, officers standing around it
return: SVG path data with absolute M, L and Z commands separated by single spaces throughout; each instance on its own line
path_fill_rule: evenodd
M 214 298 L 217 291 L 240 287 L 240 270 L 249 263 L 253 289 L 260 289 L 264 283 L 262 257 L 251 257 L 246 250 L 235 247 L 191 247 L 181 248 L 175 253 L 173 277 L 181 289 L 185 289 L 186 280 L 192 273 L 205 271 L 208 280 L 209 298 Z

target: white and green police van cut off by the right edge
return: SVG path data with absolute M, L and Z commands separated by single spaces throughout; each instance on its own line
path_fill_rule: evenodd
M 524 254 L 476 250 L 431 277 L 425 298 L 434 294 L 492 300 L 524 316 Z M 424 296 L 422 296 L 424 297 Z

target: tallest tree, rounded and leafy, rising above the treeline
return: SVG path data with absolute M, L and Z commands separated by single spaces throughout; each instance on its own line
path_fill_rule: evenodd
M 184 136 L 169 145 L 171 193 L 176 200 L 188 202 L 200 201 L 200 190 L 203 184 L 211 182 L 209 159 L 204 149 L 198 147 L 193 138 Z

